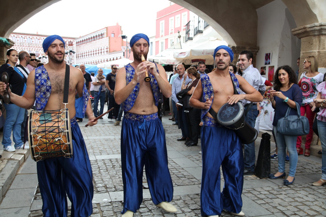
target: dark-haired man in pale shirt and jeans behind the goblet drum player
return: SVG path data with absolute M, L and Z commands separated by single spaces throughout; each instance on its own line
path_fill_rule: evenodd
M 248 81 L 257 91 L 261 84 L 261 75 L 257 68 L 252 65 L 254 55 L 250 51 L 241 51 L 239 55 L 239 66 L 243 72 L 242 77 Z M 265 88 L 265 87 L 264 87 Z M 241 94 L 245 94 L 241 92 Z M 256 118 L 259 115 L 256 103 L 251 103 L 247 100 L 242 100 L 244 104 L 244 110 L 248 109 L 248 113 L 245 115 L 244 120 L 251 127 L 255 127 Z M 253 175 L 255 172 L 255 143 L 244 145 L 244 175 Z

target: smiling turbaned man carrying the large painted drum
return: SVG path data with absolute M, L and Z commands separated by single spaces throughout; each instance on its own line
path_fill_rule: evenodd
M 36 100 L 36 109 L 64 109 L 64 81 L 66 74 L 65 41 L 62 37 L 48 36 L 43 41 L 43 50 L 49 63 L 37 67 L 27 78 L 27 88 L 23 96 L 10 93 L 11 102 L 19 107 L 30 109 Z M 71 201 L 71 216 L 90 216 L 93 212 L 92 167 L 88 158 L 82 133 L 76 122 L 75 92 L 84 100 L 83 113 L 89 117 L 89 125 L 96 124 L 81 70 L 69 66 L 68 108 L 71 123 L 71 158 L 48 158 L 37 162 L 37 178 L 42 196 L 42 212 L 45 217 L 67 216 L 67 196 Z M 0 94 L 7 85 L 0 82 Z M 82 98 L 83 97 L 83 98 Z M 88 102 L 87 102 L 88 100 Z M 32 148 L 32 144 L 30 144 Z

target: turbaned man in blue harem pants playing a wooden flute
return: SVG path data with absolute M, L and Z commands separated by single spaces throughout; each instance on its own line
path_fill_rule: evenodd
M 115 82 L 114 99 L 124 110 L 121 128 L 121 167 L 124 185 L 122 217 L 132 217 L 142 202 L 142 176 L 146 178 L 152 200 L 168 212 L 177 209 L 170 202 L 173 185 L 168 168 L 168 155 L 163 125 L 157 115 L 159 89 L 171 96 L 171 86 L 161 65 L 145 60 L 149 38 L 136 34 L 130 40 L 134 62 L 120 68 Z M 145 82 L 147 69 L 150 81 Z

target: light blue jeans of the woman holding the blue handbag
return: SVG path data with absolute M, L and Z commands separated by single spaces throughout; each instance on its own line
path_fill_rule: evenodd
M 284 136 L 283 134 L 277 133 L 276 126 L 274 126 L 274 134 L 277 142 L 278 172 L 280 173 L 285 172 L 286 149 L 288 149 L 289 158 L 290 158 L 289 176 L 294 177 L 295 170 L 297 169 L 297 163 L 298 163 L 298 152 L 296 148 L 297 137 Z

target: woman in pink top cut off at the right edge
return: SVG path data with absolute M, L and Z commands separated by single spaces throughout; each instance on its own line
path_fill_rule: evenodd
M 314 99 L 315 106 L 319 107 L 317 113 L 317 126 L 319 132 L 319 139 L 322 148 L 321 156 L 321 179 L 312 183 L 315 186 L 322 186 L 326 183 L 326 81 L 321 82 L 318 87 L 317 98 Z

